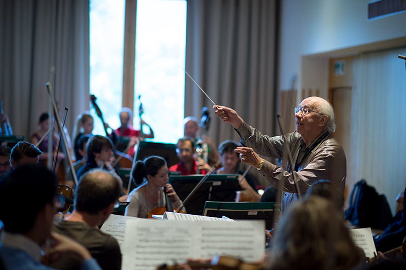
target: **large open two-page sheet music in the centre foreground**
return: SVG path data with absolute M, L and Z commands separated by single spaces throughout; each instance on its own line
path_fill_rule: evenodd
M 152 270 L 162 263 L 214 255 L 260 260 L 264 255 L 264 230 L 262 220 L 229 223 L 128 220 L 122 269 Z

